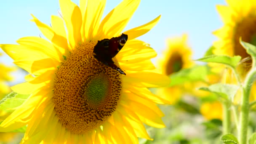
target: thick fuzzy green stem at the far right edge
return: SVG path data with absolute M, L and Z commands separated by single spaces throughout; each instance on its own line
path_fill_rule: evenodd
M 241 114 L 240 114 L 240 125 L 238 131 L 238 139 L 239 144 L 247 144 L 247 129 L 248 129 L 248 118 L 249 118 L 249 97 L 251 92 L 251 86 L 253 84 L 253 80 L 256 77 L 256 68 L 251 69 L 248 72 L 245 83 L 243 86 L 243 95 L 242 95 L 242 105 L 241 105 Z

